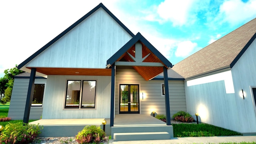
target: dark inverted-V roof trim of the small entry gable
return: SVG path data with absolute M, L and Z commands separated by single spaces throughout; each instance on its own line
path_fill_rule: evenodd
M 107 65 L 108 64 L 114 64 L 114 62 L 116 62 L 116 60 L 118 58 L 120 58 L 120 56 L 122 56 L 122 54 L 124 54 L 130 47 L 132 47 L 132 45 L 134 45 L 136 42 L 141 41 L 143 44 L 145 44 L 145 46 L 151 51 L 153 52 L 153 54 L 155 54 L 168 68 L 172 68 L 172 63 L 169 62 L 169 60 L 167 60 L 154 46 L 152 46 L 152 44 L 150 44 L 150 42 L 148 42 L 148 40 L 146 40 L 146 38 L 144 38 L 140 32 L 138 32 L 132 39 L 130 39 L 122 48 L 120 48 L 120 50 L 118 50 L 113 56 L 111 56 L 108 60 L 107 60 Z

